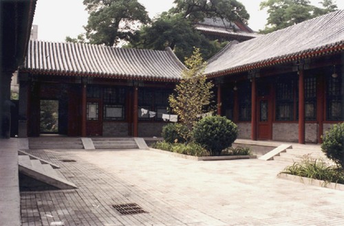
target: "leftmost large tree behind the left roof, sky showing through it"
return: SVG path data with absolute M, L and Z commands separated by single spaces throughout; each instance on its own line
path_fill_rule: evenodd
M 83 4 L 89 13 L 86 38 L 92 44 L 114 46 L 129 41 L 141 23 L 150 21 L 137 0 L 84 0 Z

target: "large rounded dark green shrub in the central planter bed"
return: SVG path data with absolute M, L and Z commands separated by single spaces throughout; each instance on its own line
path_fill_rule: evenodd
M 237 139 L 237 125 L 226 117 L 209 116 L 195 124 L 193 139 L 204 146 L 211 155 L 221 155 Z

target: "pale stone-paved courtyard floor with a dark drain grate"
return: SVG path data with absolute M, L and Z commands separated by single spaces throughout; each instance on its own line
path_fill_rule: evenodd
M 23 225 L 344 225 L 344 192 L 278 179 L 288 164 L 148 150 L 32 150 L 76 190 L 22 192 Z M 76 162 L 61 162 L 74 159 Z M 147 213 L 121 215 L 111 205 Z

